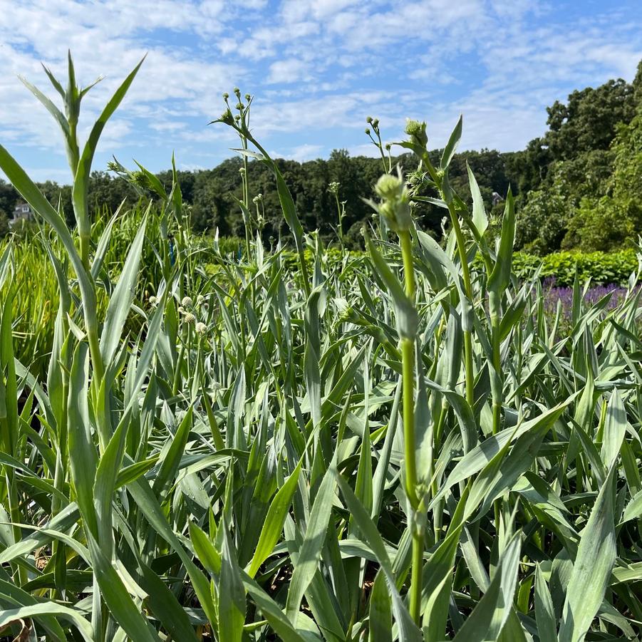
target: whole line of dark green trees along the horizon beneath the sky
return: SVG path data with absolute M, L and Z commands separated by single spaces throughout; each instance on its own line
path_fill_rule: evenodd
M 621 78 L 597 88 L 571 93 L 566 102 L 547 108 L 548 130 L 526 149 L 498 152 L 484 149 L 455 155 L 450 182 L 465 200 L 470 198 L 466 164 L 470 165 L 487 209 L 499 216 L 509 185 L 519 209 L 517 246 L 536 254 L 558 249 L 615 249 L 636 241 L 642 233 L 642 61 L 632 83 Z M 440 150 L 435 150 L 435 160 Z M 409 155 L 393 157 L 393 164 L 414 167 Z M 372 210 L 363 200 L 383 171 L 380 158 L 351 156 L 334 150 L 328 159 L 297 162 L 277 160 L 305 229 L 319 229 L 326 239 L 336 237 L 338 207 L 343 207 L 346 243 L 356 247 L 363 221 Z M 196 232 L 219 229 L 222 236 L 242 234 L 243 218 L 239 157 L 224 160 L 211 170 L 179 171 L 182 198 L 190 206 Z M 171 172 L 157 176 L 171 185 Z M 286 235 L 274 177 L 262 162 L 247 165 L 254 216 L 264 240 Z M 73 220 L 71 187 L 47 181 L 39 184 L 52 204 Z M 495 194 L 495 197 L 494 197 Z M 126 199 L 137 202 L 140 191 L 108 172 L 94 172 L 90 203 L 96 212 L 113 212 Z M 19 195 L 0 181 L 0 234 L 7 230 Z M 338 205 L 338 207 L 337 207 Z M 439 237 L 443 210 L 422 203 L 418 219 Z

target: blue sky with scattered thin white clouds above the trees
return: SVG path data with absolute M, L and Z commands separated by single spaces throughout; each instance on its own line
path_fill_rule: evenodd
M 642 58 L 642 6 L 630 1 L 0 0 L 0 143 L 36 180 L 69 182 L 61 135 L 21 85 L 46 90 L 71 48 L 81 132 L 148 53 L 95 157 L 150 170 L 214 167 L 237 146 L 222 92 L 254 99 L 254 132 L 274 155 L 311 160 L 337 147 L 372 155 L 366 116 L 385 140 L 427 120 L 440 147 L 460 113 L 461 148 L 517 150 L 546 128 L 546 106 Z

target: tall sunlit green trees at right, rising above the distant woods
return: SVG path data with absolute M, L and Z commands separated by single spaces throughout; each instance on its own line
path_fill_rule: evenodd
M 520 187 L 528 190 L 518 247 L 538 254 L 559 248 L 594 252 L 637 241 L 641 97 L 642 62 L 631 84 L 609 81 L 549 108 L 549 131 L 518 162 Z

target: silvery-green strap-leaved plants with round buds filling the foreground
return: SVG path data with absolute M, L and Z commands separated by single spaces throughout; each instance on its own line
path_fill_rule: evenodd
M 539 281 L 512 272 L 511 197 L 495 237 L 472 171 L 472 203 L 452 190 L 461 121 L 438 167 L 408 126 L 414 160 L 384 162 L 374 204 L 398 242 L 369 229 L 368 254 L 336 259 L 234 93 L 220 120 L 273 170 L 298 263 L 257 239 L 247 180 L 239 259 L 190 234 L 176 172 L 167 193 L 118 165 L 160 206 L 86 237 L 0 147 L 59 291 L 36 377 L 14 358 L 19 247 L 1 254 L 2 634 L 636 639 L 639 271 L 614 307 L 576 278 L 569 323 L 551 321 Z M 421 199 L 447 212 L 442 244 L 408 216 Z

